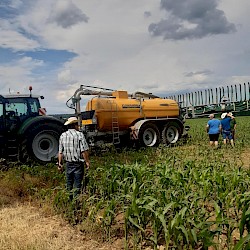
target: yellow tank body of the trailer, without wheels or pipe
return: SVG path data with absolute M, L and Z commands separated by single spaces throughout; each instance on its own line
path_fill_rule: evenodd
M 138 120 L 179 116 L 179 106 L 174 100 L 129 98 L 127 91 L 115 91 L 112 97 L 114 98 L 94 97 L 87 103 L 86 111 L 95 110 L 100 131 L 112 130 L 114 113 L 119 121 L 120 131 L 127 130 Z

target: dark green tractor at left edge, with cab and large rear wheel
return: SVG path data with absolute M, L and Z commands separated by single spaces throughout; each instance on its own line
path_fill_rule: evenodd
M 63 122 L 44 115 L 39 98 L 0 95 L 0 158 L 49 162 L 56 157 Z

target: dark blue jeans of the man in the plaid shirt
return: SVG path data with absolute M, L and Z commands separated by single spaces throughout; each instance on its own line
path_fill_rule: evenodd
M 67 190 L 74 190 L 70 198 L 77 196 L 82 191 L 82 181 L 84 176 L 84 163 L 67 162 L 66 163 L 66 185 Z M 72 196 L 73 195 L 73 196 Z

